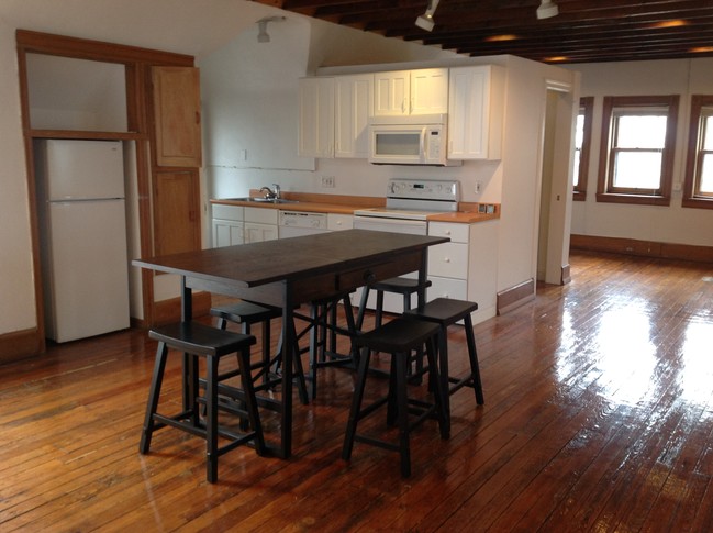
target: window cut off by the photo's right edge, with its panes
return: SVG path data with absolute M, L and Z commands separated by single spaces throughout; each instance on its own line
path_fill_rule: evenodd
M 713 209 L 713 96 L 691 97 L 683 207 Z

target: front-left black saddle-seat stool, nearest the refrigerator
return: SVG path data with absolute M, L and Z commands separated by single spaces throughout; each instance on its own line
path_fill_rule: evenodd
M 253 387 L 253 377 L 249 371 L 250 346 L 255 337 L 241 333 L 218 330 L 198 322 L 180 322 L 148 333 L 151 338 L 158 341 L 154 376 L 146 403 L 146 417 L 141 435 L 138 451 L 147 454 L 154 431 L 164 426 L 172 426 L 193 435 L 205 438 L 207 479 L 209 482 L 218 480 L 218 457 L 242 445 L 253 442 L 259 455 L 265 454 L 263 427 L 257 411 L 257 400 Z M 188 398 L 185 410 L 178 414 L 165 415 L 157 412 L 160 397 L 164 370 L 168 359 L 169 349 L 182 352 L 185 364 L 188 365 L 188 379 L 183 382 L 183 397 Z M 245 411 L 237 414 L 247 418 L 252 431 L 236 433 L 218 424 L 219 410 L 219 363 L 220 358 L 237 353 L 238 368 L 241 370 L 242 396 L 246 406 Z M 198 357 L 205 357 L 207 377 L 205 395 L 198 396 Z M 186 391 L 188 388 L 188 391 Z M 205 418 L 201 422 L 199 407 L 204 404 Z M 235 412 L 235 411 L 233 411 Z M 218 446 L 218 438 L 223 437 L 230 442 L 222 447 Z

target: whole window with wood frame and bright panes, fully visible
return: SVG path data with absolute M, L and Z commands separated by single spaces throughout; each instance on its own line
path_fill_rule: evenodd
M 668 206 L 679 97 L 605 97 L 597 201 Z

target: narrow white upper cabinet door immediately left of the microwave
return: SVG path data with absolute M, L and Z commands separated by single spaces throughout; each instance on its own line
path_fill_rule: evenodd
M 374 75 L 334 78 L 334 157 L 368 157 Z

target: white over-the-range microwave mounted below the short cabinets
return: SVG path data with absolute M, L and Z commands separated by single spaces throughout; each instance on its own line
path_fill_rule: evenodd
M 369 121 L 369 163 L 460 165 L 447 158 L 446 114 L 375 116 Z

